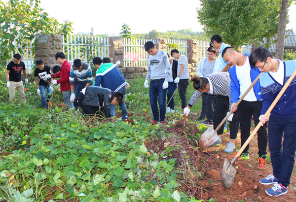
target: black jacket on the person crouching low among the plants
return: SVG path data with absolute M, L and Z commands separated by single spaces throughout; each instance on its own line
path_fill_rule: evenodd
M 98 86 L 89 86 L 85 90 L 83 104 L 99 106 L 106 118 L 111 117 L 110 102 L 113 100 L 114 95 L 108 88 Z

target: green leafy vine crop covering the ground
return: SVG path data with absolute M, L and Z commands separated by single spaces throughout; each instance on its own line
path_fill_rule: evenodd
M 126 103 L 133 124 L 94 117 L 83 124 L 79 113 L 60 105 L 57 86 L 52 108 L 41 109 L 34 83 L 25 84 L 26 104 L 9 103 L 3 80 L 4 71 L 0 72 L 0 201 L 198 201 L 183 191 L 180 181 L 185 174 L 174 155 L 179 152 L 191 162 L 185 149 L 196 149 L 199 134 L 188 135 L 186 148 L 177 141 L 170 145 L 167 139 L 178 137 L 171 128 L 184 117 L 168 114 L 165 127 L 150 125 L 143 78 L 129 81 Z M 190 85 L 188 98 L 193 92 Z M 178 93 L 175 98 L 180 106 Z M 196 127 L 194 120 L 188 122 Z M 146 146 L 158 139 L 167 142 L 167 147 L 161 144 L 162 151 Z M 197 169 L 191 170 L 201 176 Z

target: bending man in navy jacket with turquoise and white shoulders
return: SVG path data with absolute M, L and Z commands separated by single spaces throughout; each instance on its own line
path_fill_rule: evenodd
M 102 62 L 101 62 L 102 61 Z M 122 93 L 125 96 L 126 89 L 129 88 L 129 84 L 126 82 L 121 71 L 117 68 L 117 64 L 111 63 L 111 59 L 106 57 L 100 60 L 99 57 L 93 59 L 93 64 L 98 69 L 95 79 L 95 86 L 102 86 L 108 88 L 111 91 Z M 125 102 L 120 103 L 120 109 L 122 111 L 121 119 L 127 120 L 128 113 Z M 110 105 L 111 117 L 115 116 L 115 105 Z

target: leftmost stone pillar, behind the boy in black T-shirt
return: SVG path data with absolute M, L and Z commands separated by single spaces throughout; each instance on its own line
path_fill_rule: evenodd
M 35 59 L 42 60 L 44 65 L 53 67 L 60 65 L 56 63 L 55 54 L 62 52 L 61 34 L 37 34 L 37 43 L 35 44 Z

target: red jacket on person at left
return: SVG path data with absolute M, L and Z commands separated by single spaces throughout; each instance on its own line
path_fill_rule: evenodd
M 70 68 L 70 63 L 67 60 L 65 60 L 65 62 L 61 66 L 60 73 L 51 74 L 51 78 L 60 78 L 57 80 L 57 83 L 61 84 L 61 92 L 71 90 L 69 80 Z

